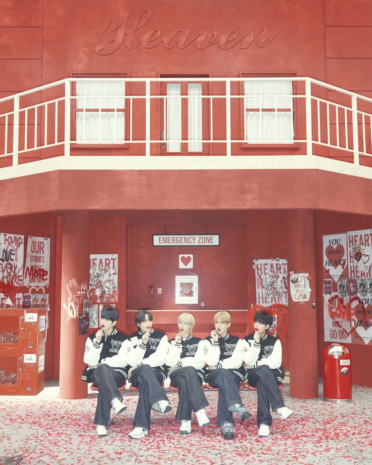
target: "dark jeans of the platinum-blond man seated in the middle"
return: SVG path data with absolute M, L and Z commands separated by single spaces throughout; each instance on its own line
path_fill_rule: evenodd
M 208 401 L 202 389 L 198 371 L 193 366 L 181 366 L 169 375 L 172 386 L 178 388 L 177 420 L 191 420 L 192 412 L 207 407 Z

